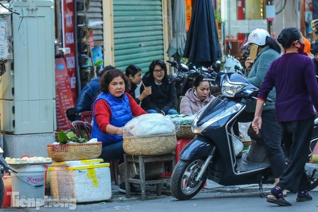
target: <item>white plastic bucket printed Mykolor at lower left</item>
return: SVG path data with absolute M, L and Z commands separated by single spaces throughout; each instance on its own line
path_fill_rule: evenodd
M 14 166 L 10 171 L 12 181 L 11 207 L 31 208 L 44 206 L 45 166 Z

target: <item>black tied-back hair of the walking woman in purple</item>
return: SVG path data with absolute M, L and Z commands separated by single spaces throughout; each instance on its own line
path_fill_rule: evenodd
M 277 37 L 277 41 L 284 47 L 284 49 L 288 49 L 294 41 L 299 40 L 301 37 L 302 34 L 298 28 L 288 27 L 281 31 Z

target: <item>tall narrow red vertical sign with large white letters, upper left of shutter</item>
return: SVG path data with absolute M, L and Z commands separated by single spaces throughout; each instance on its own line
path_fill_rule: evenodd
M 66 67 L 70 78 L 74 102 L 77 99 L 76 90 L 76 66 L 75 66 L 75 24 L 74 24 L 74 0 L 62 0 L 62 28 L 63 47 L 70 48 L 71 52 L 65 55 Z

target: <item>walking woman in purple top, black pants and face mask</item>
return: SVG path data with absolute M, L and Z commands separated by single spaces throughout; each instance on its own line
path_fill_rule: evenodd
M 283 190 L 298 193 L 296 201 L 313 198 L 307 192 L 311 182 L 305 171 L 308 161 L 315 113 L 318 109 L 318 86 L 311 59 L 304 52 L 304 37 L 297 28 L 285 28 L 277 38 L 285 54 L 271 63 L 259 89 L 252 127 L 258 133 L 262 125 L 262 107 L 268 93 L 276 89 L 276 119 L 280 123 L 282 139 L 288 157 L 287 168 L 279 183 L 271 190 L 274 198 L 267 202 L 291 206 L 283 197 Z

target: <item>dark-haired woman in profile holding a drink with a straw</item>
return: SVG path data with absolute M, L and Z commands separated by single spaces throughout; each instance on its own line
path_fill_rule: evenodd
M 130 79 L 130 95 L 135 99 L 136 103 L 139 105 L 141 101 L 145 97 L 151 94 L 151 88 L 146 88 L 143 93 L 140 94 L 138 98 L 136 98 L 135 91 L 137 89 L 137 85 L 141 83 L 142 80 L 142 71 L 138 66 L 130 65 L 126 68 L 126 76 Z

